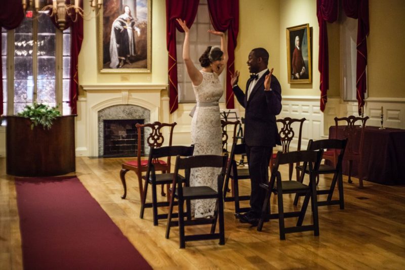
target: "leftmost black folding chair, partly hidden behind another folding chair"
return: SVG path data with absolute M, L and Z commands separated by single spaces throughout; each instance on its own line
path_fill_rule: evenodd
M 143 189 L 143 200 L 141 201 L 141 212 L 139 214 L 140 218 L 143 218 L 145 208 L 153 209 L 153 225 L 157 226 L 158 219 L 167 218 L 168 214 L 157 214 L 157 207 L 169 206 L 169 202 L 157 202 L 156 187 L 158 185 L 170 185 L 173 181 L 173 173 L 159 173 L 156 174 L 155 162 L 159 158 L 170 158 L 172 156 L 182 156 L 188 157 L 193 154 L 194 146 L 163 146 L 159 148 L 151 148 L 148 159 L 148 170 L 146 175 L 142 176 L 145 180 L 145 187 Z M 178 182 L 184 182 L 184 176 L 178 174 Z M 148 185 L 152 188 L 152 203 L 146 203 L 146 195 L 148 192 Z

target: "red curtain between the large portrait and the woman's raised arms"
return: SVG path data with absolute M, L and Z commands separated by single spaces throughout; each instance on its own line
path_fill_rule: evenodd
M 179 107 L 177 92 L 177 55 L 176 55 L 176 28 L 183 29 L 176 22 L 177 18 L 186 21 L 191 27 L 197 14 L 199 0 L 166 0 L 166 27 L 167 48 L 169 51 L 169 107 L 173 113 Z

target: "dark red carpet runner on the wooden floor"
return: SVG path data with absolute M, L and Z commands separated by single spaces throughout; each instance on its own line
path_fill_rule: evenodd
M 74 176 L 16 177 L 24 269 L 151 269 Z

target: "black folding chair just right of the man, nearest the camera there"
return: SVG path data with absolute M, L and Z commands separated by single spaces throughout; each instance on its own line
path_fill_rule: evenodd
M 263 222 L 266 219 L 277 219 L 280 230 L 280 240 L 286 239 L 286 234 L 313 231 L 315 236 L 319 235 L 318 224 L 318 204 L 316 200 L 316 183 L 315 176 L 319 168 L 319 163 L 322 158 L 323 150 L 319 151 L 294 151 L 289 153 L 277 152 L 275 158 L 275 164 L 272 169 L 270 181 L 268 183 L 262 183 L 260 186 L 266 190 L 266 195 L 263 203 L 262 213 L 260 216 L 257 230 L 260 232 L 263 228 Z M 278 171 L 278 166 L 281 164 L 303 162 L 303 169 L 309 170 L 309 185 L 305 185 L 302 181 L 281 181 L 281 174 Z M 314 164 L 314 165 L 313 165 Z M 304 174 L 302 173 L 302 176 Z M 269 209 L 271 193 L 277 194 L 278 213 L 268 213 L 266 209 Z M 296 194 L 305 193 L 305 199 L 300 211 L 284 212 L 283 206 L 283 194 Z M 311 199 L 312 209 L 312 225 L 302 226 L 305 212 L 308 207 L 309 199 Z M 284 224 L 284 218 L 298 217 L 297 225 L 295 227 L 286 228 Z

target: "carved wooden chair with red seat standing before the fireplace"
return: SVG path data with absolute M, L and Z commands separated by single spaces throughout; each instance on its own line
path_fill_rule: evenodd
M 141 140 L 142 140 L 142 134 L 144 133 L 144 128 L 148 127 L 151 129 L 151 132 L 149 133 L 149 136 L 145 138 L 145 147 L 149 146 L 149 148 L 158 148 L 161 147 L 165 141 L 163 137 L 163 132 L 162 129 L 164 127 L 169 128 L 169 146 L 172 146 L 172 137 L 173 137 L 173 129 L 174 126 L 177 123 L 160 123 L 160 122 L 153 122 L 153 123 L 148 123 L 148 124 L 136 124 L 137 132 L 138 132 L 138 147 L 137 147 L 137 158 L 136 160 L 131 160 L 128 162 L 123 163 L 121 171 L 119 172 L 119 177 L 121 178 L 121 182 L 123 183 L 124 187 L 124 195 L 121 196 L 121 198 L 125 199 L 127 197 L 127 184 L 125 180 L 125 174 L 129 170 L 135 171 L 137 177 L 138 177 L 138 183 L 139 183 L 139 196 L 141 198 L 141 201 L 143 201 L 143 188 L 142 188 L 142 172 L 147 171 L 148 169 L 148 160 L 142 159 L 141 158 Z M 167 161 L 164 160 L 153 160 L 154 163 L 154 169 L 156 171 L 163 171 L 163 172 L 170 172 L 170 157 L 167 159 Z M 166 194 L 163 191 L 163 186 L 161 186 L 161 195 L 165 196 Z

